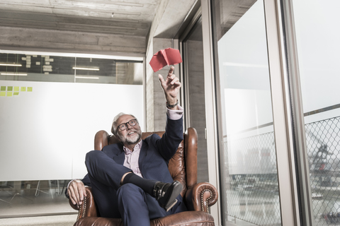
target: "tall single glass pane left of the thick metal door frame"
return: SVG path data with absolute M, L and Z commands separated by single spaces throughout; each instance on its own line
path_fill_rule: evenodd
M 263 1 L 213 1 L 224 225 L 281 225 Z

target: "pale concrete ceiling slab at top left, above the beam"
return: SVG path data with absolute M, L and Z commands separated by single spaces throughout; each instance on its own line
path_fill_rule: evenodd
M 1 0 L 0 25 L 146 37 L 161 0 Z

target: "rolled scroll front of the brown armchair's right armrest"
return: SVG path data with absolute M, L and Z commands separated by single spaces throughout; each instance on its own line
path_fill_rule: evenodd
M 208 182 L 195 184 L 186 191 L 186 206 L 188 210 L 209 213 L 209 206 L 217 202 L 217 189 Z

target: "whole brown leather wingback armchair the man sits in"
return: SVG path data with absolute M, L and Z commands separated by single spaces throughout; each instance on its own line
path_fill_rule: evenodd
M 154 132 L 162 136 L 162 132 Z M 142 133 L 142 139 L 151 135 L 151 132 Z M 118 143 L 113 135 L 106 131 L 98 131 L 94 138 L 95 150 L 101 150 L 104 146 Z M 179 148 L 169 162 L 169 171 L 174 180 L 181 182 L 183 190 L 181 196 L 186 202 L 187 212 L 176 213 L 164 218 L 150 220 L 151 225 L 215 225 L 214 218 L 209 214 L 209 206 L 217 201 L 217 190 L 212 184 L 202 182 L 197 184 L 197 133 L 196 129 L 189 128 L 184 133 L 184 139 Z M 91 187 L 86 187 L 86 200 L 78 208 L 71 201 L 69 204 L 75 210 L 79 210 L 77 222 L 78 225 L 106 225 L 106 226 L 123 226 L 121 219 L 100 218 L 96 209 L 96 201 L 91 193 Z

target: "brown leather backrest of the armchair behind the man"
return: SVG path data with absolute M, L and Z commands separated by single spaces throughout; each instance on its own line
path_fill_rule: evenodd
M 142 139 L 151 134 L 163 135 L 164 131 L 142 133 Z M 94 149 L 102 150 L 103 147 L 113 143 L 119 143 L 114 135 L 106 131 L 98 131 L 94 137 Z M 179 145 L 176 154 L 169 161 L 169 172 L 174 180 L 181 182 L 183 190 L 181 196 L 186 194 L 197 183 L 197 132 L 194 128 L 188 128 L 183 134 L 183 141 Z

